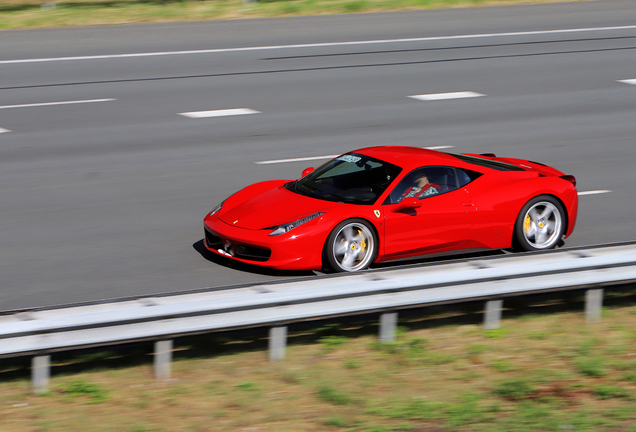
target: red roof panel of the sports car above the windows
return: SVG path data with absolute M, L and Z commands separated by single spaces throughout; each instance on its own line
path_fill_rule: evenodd
M 405 169 L 417 168 L 424 165 L 463 166 L 461 160 L 447 153 L 429 150 L 421 147 L 407 146 L 379 146 L 354 150 L 372 158 L 392 163 Z

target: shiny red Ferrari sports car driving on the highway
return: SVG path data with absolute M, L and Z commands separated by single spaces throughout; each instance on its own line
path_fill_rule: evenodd
M 575 178 L 537 162 L 370 147 L 238 191 L 205 217 L 205 245 L 264 267 L 353 272 L 462 249 L 551 249 L 577 209 Z

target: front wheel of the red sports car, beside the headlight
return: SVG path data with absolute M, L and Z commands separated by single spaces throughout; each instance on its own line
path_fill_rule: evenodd
M 364 219 L 340 222 L 325 243 L 326 264 L 334 272 L 364 270 L 375 260 L 378 239 Z

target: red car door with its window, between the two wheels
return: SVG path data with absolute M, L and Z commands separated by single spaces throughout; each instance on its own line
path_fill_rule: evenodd
M 461 174 L 454 167 L 422 167 L 400 181 L 383 204 L 383 259 L 461 249 L 475 211 Z M 422 176 L 429 186 L 413 192 Z

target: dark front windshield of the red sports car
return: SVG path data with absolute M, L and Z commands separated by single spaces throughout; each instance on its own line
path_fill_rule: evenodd
M 373 204 L 402 171 L 369 156 L 348 153 L 286 185 L 301 195 L 348 204 Z

